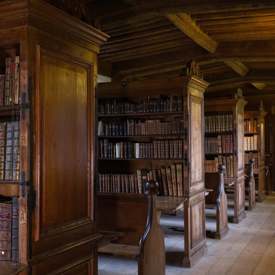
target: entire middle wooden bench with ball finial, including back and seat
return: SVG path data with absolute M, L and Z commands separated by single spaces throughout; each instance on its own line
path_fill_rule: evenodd
M 229 231 L 227 221 L 227 198 L 224 191 L 225 166 L 218 165 L 218 173 L 205 173 L 205 188 L 213 189 L 205 196 L 205 208 L 216 209 L 217 230 L 215 239 L 222 239 Z

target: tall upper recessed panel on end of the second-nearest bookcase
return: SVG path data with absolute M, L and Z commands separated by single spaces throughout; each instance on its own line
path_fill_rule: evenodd
M 202 102 L 190 97 L 190 156 L 191 156 L 191 186 L 194 182 L 202 180 Z

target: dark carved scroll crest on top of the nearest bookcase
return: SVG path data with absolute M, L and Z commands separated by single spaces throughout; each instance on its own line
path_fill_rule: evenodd
M 83 0 L 44 0 L 48 4 L 72 15 L 73 17 L 89 24 L 90 26 L 100 30 L 100 24 L 97 19 L 91 20 L 89 11 Z

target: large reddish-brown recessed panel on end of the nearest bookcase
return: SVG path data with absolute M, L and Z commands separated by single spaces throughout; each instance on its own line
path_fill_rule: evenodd
M 43 231 L 88 216 L 88 156 L 87 70 L 50 57 L 42 60 Z

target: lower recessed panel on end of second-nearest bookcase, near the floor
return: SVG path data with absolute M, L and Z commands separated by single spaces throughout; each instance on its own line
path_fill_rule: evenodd
M 204 200 L 195 205 L 190 205 L 191 213 L 191 249 L 205 238 L 205 213 Z

